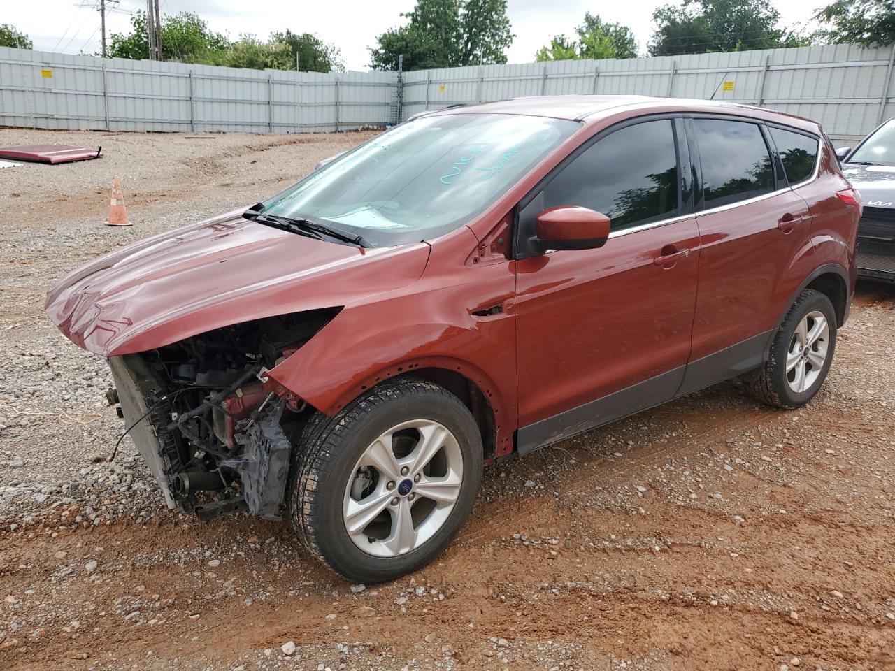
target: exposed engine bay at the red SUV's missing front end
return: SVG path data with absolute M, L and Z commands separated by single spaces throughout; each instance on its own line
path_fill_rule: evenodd
M 109 402 L 120 403 L 169 507 L 203 519 L 239 510 L 282 518 L 292 446 L 313 411 L 266 389 L 264 373 L 339 310 L 258 319 L 108 359 Z

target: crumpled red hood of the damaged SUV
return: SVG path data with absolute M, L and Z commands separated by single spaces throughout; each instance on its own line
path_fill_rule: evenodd
M 215 328 L 350 305 L 422 276 L 424 242 L 360 249 L 227 213 L 113 251 L 47 293 L 47 315 L 90 352 L 143 352 Z

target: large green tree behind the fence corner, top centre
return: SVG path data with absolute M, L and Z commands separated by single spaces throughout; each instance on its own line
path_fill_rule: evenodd
M 507 63 L 513 41 L 507 0 L 417 0 L 410 21 L 376 38 L 371 67 L 405 70 Z

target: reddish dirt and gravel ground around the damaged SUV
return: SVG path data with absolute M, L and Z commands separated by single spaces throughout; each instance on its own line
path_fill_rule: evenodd
M 730 382 L 490 467 L 453 546 L 384 585 L 329 573 L 285 525 L 166 511 L 129 439 L 104 461 L 109 376 L 46 319 L 48 285 L 368 136 L 0 130 L 107 153 L 0 170 L 0 668 L 895 669 L 883 285 L 859 285 L 804 409 Z M 131 229 L 102 225 L 114 174 Z

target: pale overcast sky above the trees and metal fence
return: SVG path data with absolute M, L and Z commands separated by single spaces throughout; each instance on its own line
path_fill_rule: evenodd
M 617 21 L 634 30 L 641 54 L 652 35 L 652 12 L 669 0 L 624 0 L 594 3 L 584 0 L 508 0 L 508 14 L 516 38 L 507 50 L 509 63 L 529 63 L 535 52 L 554 35 L 573 35 L 584 13 L 600 14 L 604 21 Z M 679 0 L 678 0 L 679 2 Z M 99 0 L 3 0 L 0 23 L 12 23 L 29 35 L 34 48 L 67 54 L 98 53 Z M 404 23 L 401 13 L 413 9 L 414 0 L 160 0 L 162 14 L 198 13 L 209 27 L 237 38 L 252 33 L 267 38 L 270 32 L 286 30 L 316 33 L 335 44 L 348 70 L 369 69 L 370 51 L 376 36 Z M 677 4 L 677 2 L 675 3 Z M 778 0 L 782 23 L 805 25 L 808 17 L 826 0 Z M 144 0 L 120 0 L 107 15 L 107 32 L 130 30 L 134 10 L 145 8 Z

